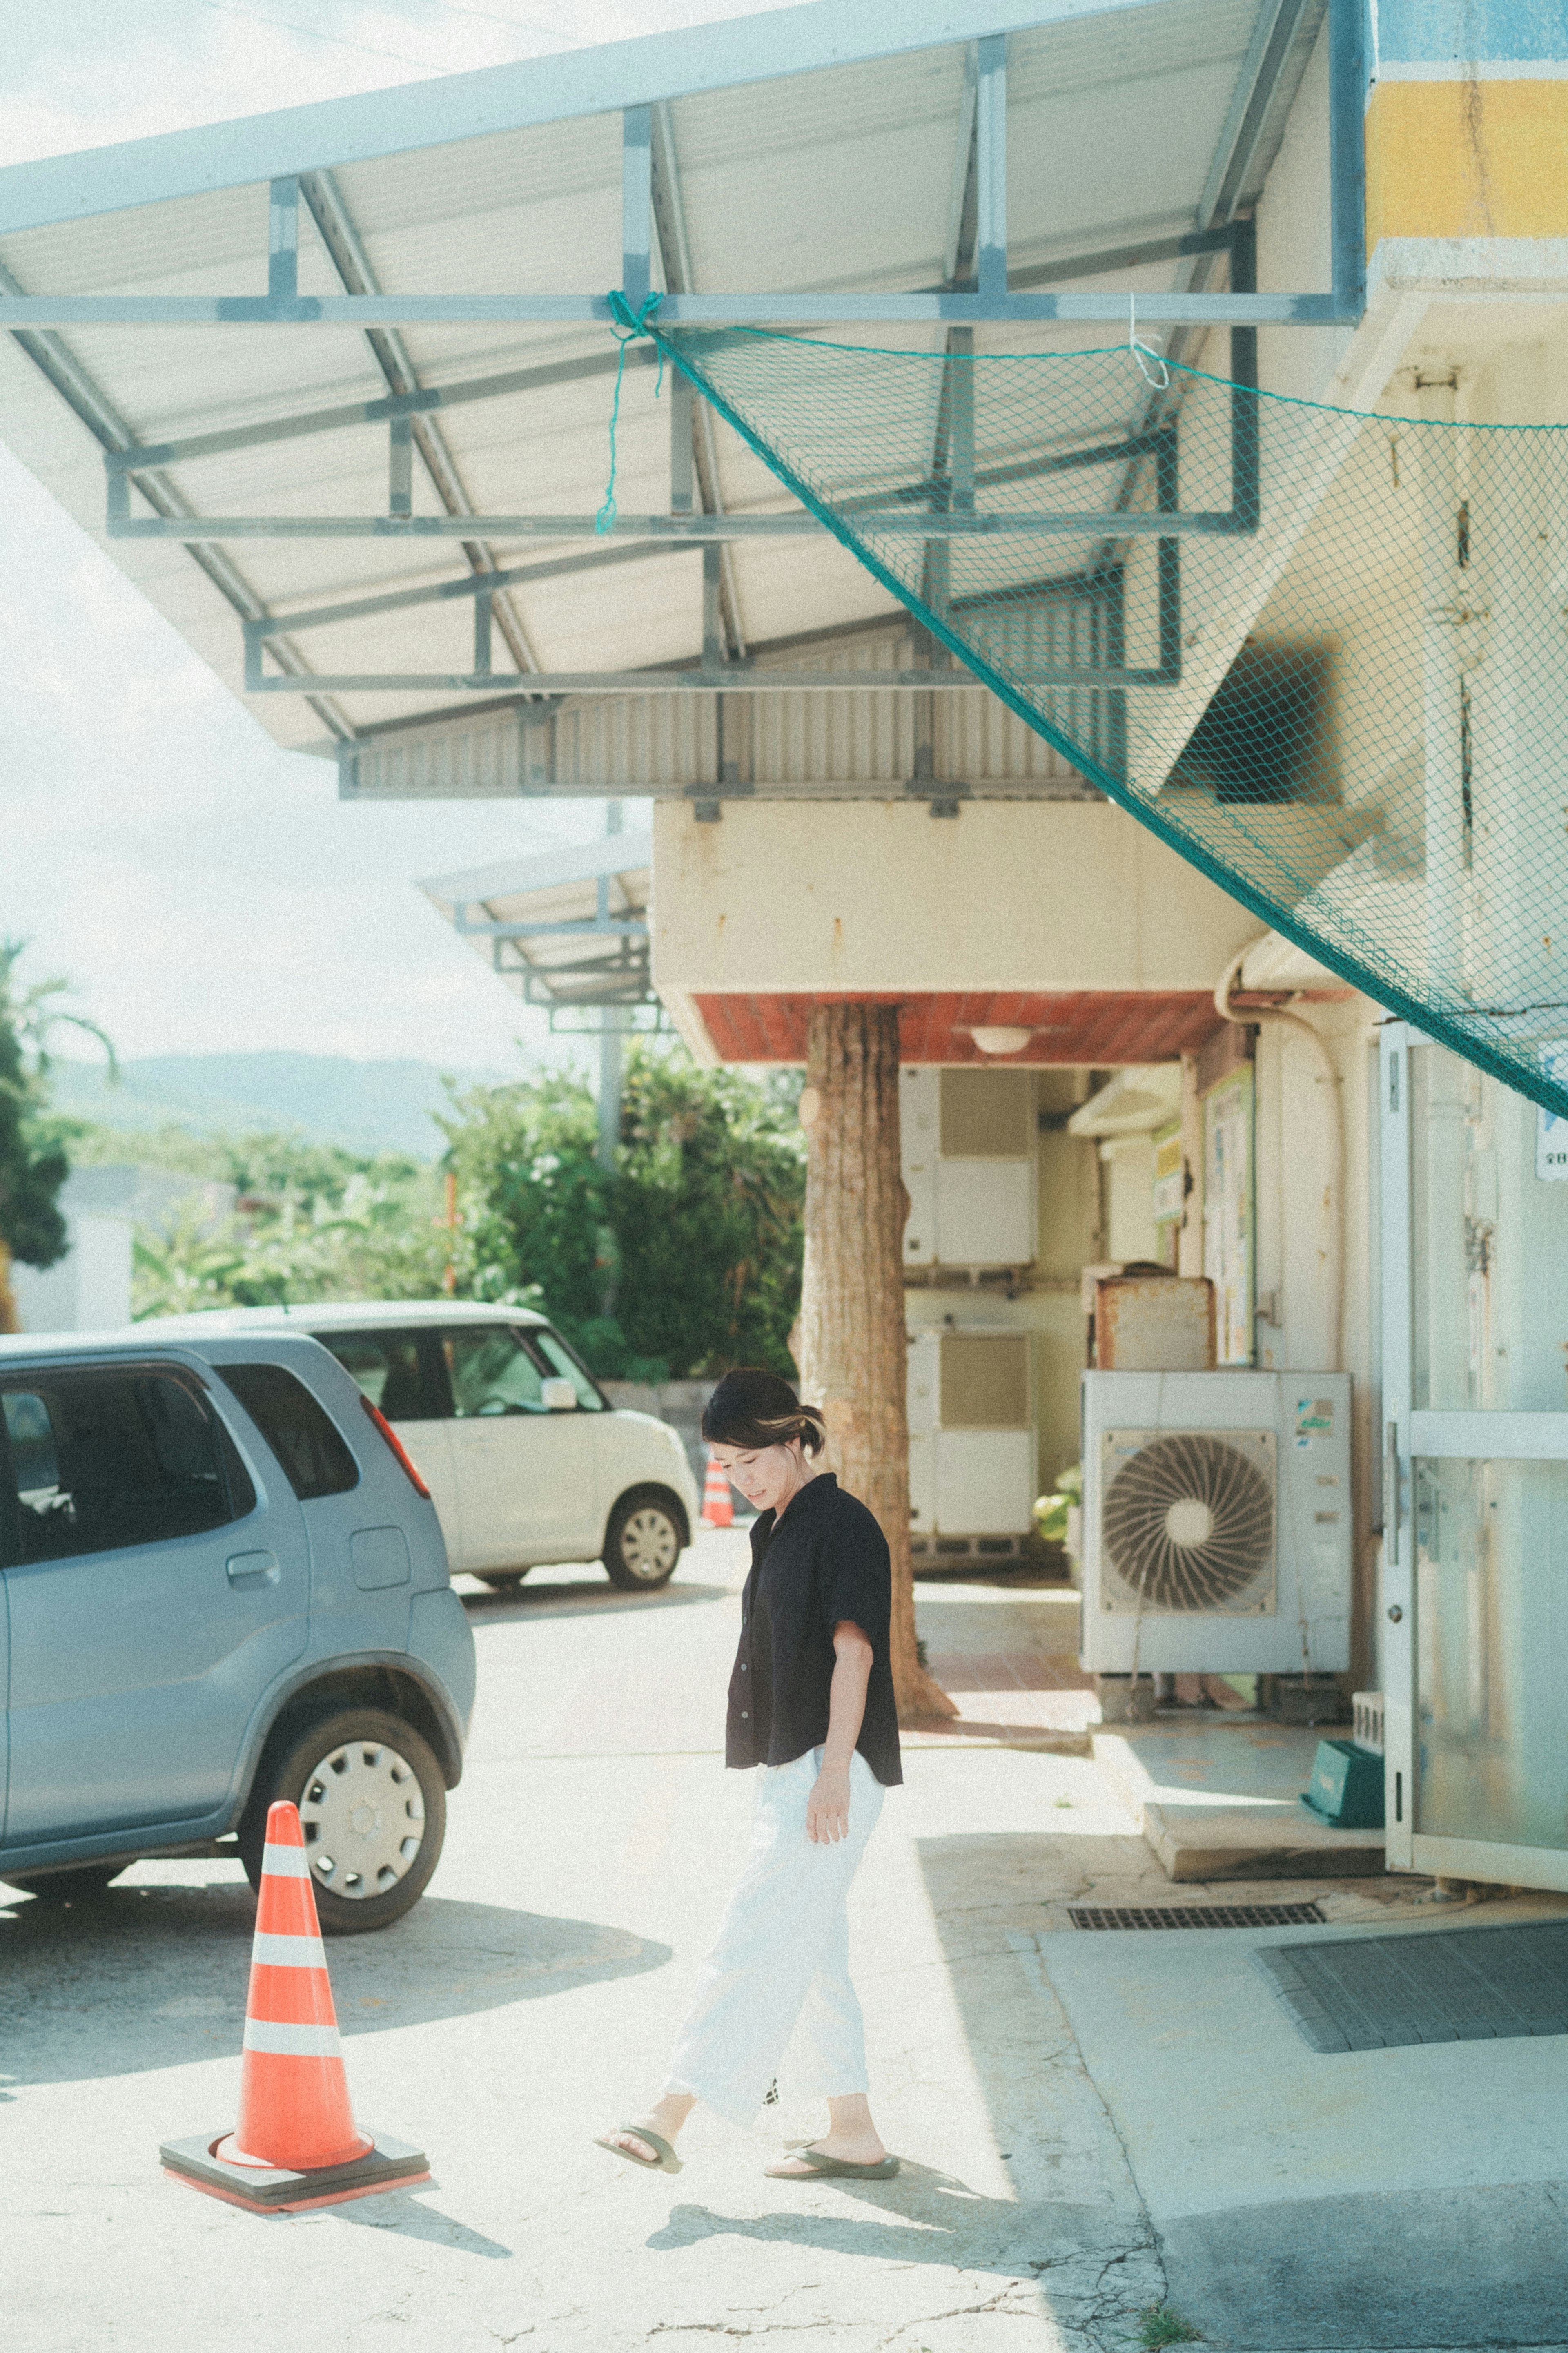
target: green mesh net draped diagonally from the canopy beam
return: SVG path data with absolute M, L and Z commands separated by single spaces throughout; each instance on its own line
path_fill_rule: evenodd
M 1128 344 L 646 332 L 938 659 L 1262 922 L 1568 1115 L 1566 428 L 1363 416 Z

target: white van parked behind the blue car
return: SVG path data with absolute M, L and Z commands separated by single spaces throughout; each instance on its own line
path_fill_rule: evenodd
M 310 1332 L 397 1431 L 454 1574 L 515 1586 L 548 1560 L 602 1560 L 611 1584 L 668 1584 L 701 1497 L 677 1433 L 614 1407 L 543 1315 L 456 1299 L 223 1308 L 160 1334 Z

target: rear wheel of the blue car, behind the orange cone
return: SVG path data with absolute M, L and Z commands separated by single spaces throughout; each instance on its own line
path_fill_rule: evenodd
M 301 1814 L 324 1937 L 364 1937 L 418 1904 L 442 1859 L 447 1784 L 414 1725 L 381 1708 L 343 1708 L 306 1725 L 263 1762 L 240 1824 L 240 1859 L 254 1889 L 261 1889 L 268 1807 L 280 1798 Z

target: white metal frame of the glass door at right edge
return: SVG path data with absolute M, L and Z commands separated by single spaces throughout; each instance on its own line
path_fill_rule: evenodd
M 1418 1461 L 1568 1461 L 1568 1412 L 1432 1412 L 1415 1405 L 1410 1047 L 1434 1040 L 1408 1021 L 1378 1033 L 1382 1228 L 1382 1572 L 1378 1586 L 1385 1706 L 1385 1824 L 1389 1871 L 1568 1892 L 1568 1847 L 1512 1847 L 1415 1828 L 1418 1791 Z M 1434 1052 L 1441 1052 L 1434 1047 Z

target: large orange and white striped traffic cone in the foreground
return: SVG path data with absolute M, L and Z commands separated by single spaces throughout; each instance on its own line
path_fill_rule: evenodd
M 174 2179 L 252 2214 L 299 2214 L 430 2179 L 423 2151 L 355 2129 L 306 1835 L 292 1805 L 270 1807 L 266 1819 L 240 2122 L 228 2134 L 165 2141 L 160 2158 Z

